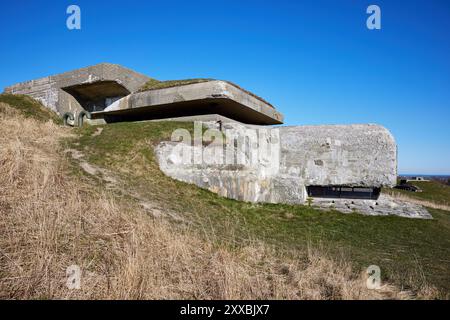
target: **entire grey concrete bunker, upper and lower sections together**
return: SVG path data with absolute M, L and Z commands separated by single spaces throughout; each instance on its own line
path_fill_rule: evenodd
M 395 185 L 397 179 L 397 145 L 384 127 L 273 127 L 283 123 L 283 115 L 264 99 L 228 81 L 188 80 L 159 81 L 103 63 L 19 83 L 5 92 L 40 100 L 73 126 L 84 121 L 201 121 L 209 129 L 228 130 L 240 138 L 256 130 L 261 146 L 271 142 L 271 152 L 258 149 L 257 161 L 239 165 L 223 162 L 224 166 L 214 154 L 211 161 L 201 163 L 177 160 L 180 147 L 204 156 L 211 151 L 209 145 L 161 142 L 155 150 L 167 176 L 227 198 L 292 205 L 306 204 L 312 198 L 315 206 L 327 210 L 430 217 L 425 209 L 380 194 L 382 187 Z M 236 159 L 253 155 L 236 145 L 231 150 Z

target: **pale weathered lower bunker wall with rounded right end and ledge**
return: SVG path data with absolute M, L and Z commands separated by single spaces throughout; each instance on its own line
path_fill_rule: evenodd
M 215 122 L 206 125 L 217 129 Z M 222 130 L 227 137 L 225 145 L 195 141 L 192 144 L 189 141 L 160 143 L 156 158 L 161 170 L 177 180 L 249 202 L 305 204 L 307 186 L 383 187 L 396 183 L 396 143 L 389 131 L 378 125 L 268 128 L 224 123 Z M 250 136 L 252 130 L 258 135 L 256 148 L 235 143 Z M 209 134 L 210 137 L 219 135 Z M 270 146 L 265 147 L 269 151 L 259 152 L 264 142 Z M 234 155 L 229 157 L 230 154 Z M 201 161 L 195 162 L 198 155 Z M 234 163 L 227 161 L 227 157 L 235 159 Z M 327 208 L 330 202 L 329 199 L 317 200 L 317 204 Z M 429 217 L 428 212 L 418 206 L 413 208 L 384 197 L 374 203 L 371 200 L 354 200 L 353 204 L 345 199 L 337 201 L 341 202 L 342 206 L 336 205 L 337 210 Z M 372 209 L 372 205 L 376 209 Z

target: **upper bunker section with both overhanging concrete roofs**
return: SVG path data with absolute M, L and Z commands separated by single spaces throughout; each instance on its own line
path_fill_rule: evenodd
M 149 86 L 152 83 L 156 86 Z M 283 115 L 270 103 L 231 82 L 159 81 L 110 63 L 18 83 L 5 92 L 41 101 L 69 125 L 82 124 L 77 119 L 83 112 L 94 124 L 177 118 L 195 121 L 210 115 L 247 124 L 283 123 Z

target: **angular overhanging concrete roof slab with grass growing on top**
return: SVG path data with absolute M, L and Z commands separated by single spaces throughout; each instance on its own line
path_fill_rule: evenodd
M 259 125 L 283 123 L 283 115 L 261 98 L 220 80 L 131 94 L 114 106 L 93 112 L 106 121 L 136 121 L 205 114 Z

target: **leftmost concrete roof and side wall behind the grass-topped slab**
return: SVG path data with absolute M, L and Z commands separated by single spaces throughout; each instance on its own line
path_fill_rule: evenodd
M 62 74 L 31 80 L 5 88 L 5 93 L 26 94 L 51 110 L 63 115 L 85 110 L 80 104 L 80 96 L 92 92 L 115 95 L 117 90 L 122 95 L 137 91 L 150 78 L 122 66 L 101 63 L 87 68 L 77 69 Z M 113 84 L 115 90 L 111 90 Z M 80 86 L 80 90 L 77 90 Z M 93 87 L 97 86 L 95 90 Z M 89 111 L 89 110 L 88 110 Z

